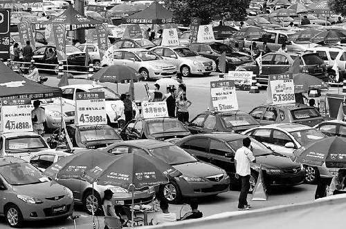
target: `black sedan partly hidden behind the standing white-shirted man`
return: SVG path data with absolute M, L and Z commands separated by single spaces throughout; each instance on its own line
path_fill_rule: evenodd
M 184 137 L 176 142 L 192 156 L 223 168 L 231 183 L 239 186 L 235 178 L 235 152 L 243 146 L 244 135 L 234 133 L 212 133 Z M 259 141 L 251 139 L 256 163 L 251 163 L 251 192 L 255 187 L 262 166 L 264 183 L 267 186 L 296 186 L 304 182 L 305 172 L 300 163 L 269 150 Z

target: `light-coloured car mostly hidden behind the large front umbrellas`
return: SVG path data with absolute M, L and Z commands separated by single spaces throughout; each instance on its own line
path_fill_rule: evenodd
M 95 152 L 97 153 L 97 152 Z M 46 170 L 53 163 L 59 161 L 63 157 L 69 157 L 71 154 L 68 152 L 57 150 L 46 150 L 37 152 L 30 157 L 30 163 L 39 168 Z M 82 204 L 84 210 L 90 215 L 92 210 L 96 213 L 102 209 L 102 202 L 104 190 L 110 189 L 114 192 L 113 201 L 118 202 L 119 205 L 131 205 L 132 194 L 125 188 L 118 186 L 100 186 L 98 183 L 91 184 L 87 181 L 79 179 L 59 179 L 57 183 L 66 186 L 73 192 L 73 201 L 76 204 Z M 134 192 L 134 203 L 145 204 L 152 201 L 155 195 L 154 188 L 142 188 Z M 103 212 L 102 212 L 103 213 Z

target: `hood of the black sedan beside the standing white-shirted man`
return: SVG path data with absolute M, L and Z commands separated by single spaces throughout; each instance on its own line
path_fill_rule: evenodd
M 262 165 L 265 168 L 283 169 L 294 168 L 300 166 L 300 163 L 291 161 L 289 157 L 282 157 L 276 155 L 257 156 L 256 164 Z

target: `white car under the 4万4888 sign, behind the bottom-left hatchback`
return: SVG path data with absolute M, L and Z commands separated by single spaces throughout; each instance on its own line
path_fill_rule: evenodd
M 28 160 L 30 153 L 49 149 L 41 135 L 35 132 L 0 133 L 0 156 Z

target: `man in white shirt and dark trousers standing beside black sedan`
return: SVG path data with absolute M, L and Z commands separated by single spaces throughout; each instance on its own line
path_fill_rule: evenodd
M 248 190 L 250 190 L 250 163 L 255 163 L 256 159 L 253 157 L 253 152 L 251 152 L 250 148 L 251 139 L 246 137 L 243 139 L 243 147 L 235 152 L 235 168 L 237 172 L 235 176 L 242 180 L 238 210 L 248 210 L 251 207 L 248 205 L 246 198 L 248 197 Z

